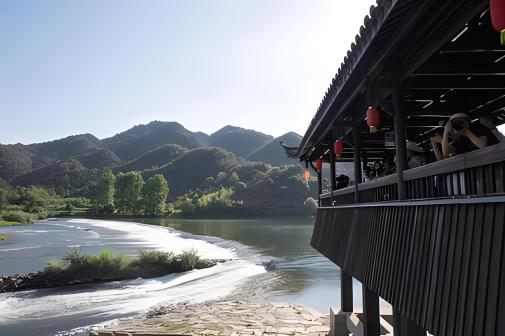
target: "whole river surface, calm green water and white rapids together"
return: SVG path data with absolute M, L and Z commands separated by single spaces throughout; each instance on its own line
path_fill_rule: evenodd
M 109 249 L 130 256 L 145 249 L 180 252 L 195 248 L 203 258 L 231 259 L 209 269 L 155 279 L 3 293 L 0 335 L 81 335 L 89 325 L 145 313 L 158 305 L 201 302 L 247 291 L 244 283 L 260 274 L 265 275 L 263 279 L 270 275 L 272 281 L 276 279 L 266 293 L 268 300 L 328 312 L 340 300 L 338 270 L 310 247 L 312 228 L 313 218 L 308 217 L 51 219 L 0 228 L 0 234 L 11 236 L 0 241 L 3 275 L 38 271 L 72 248 L 92 254 Z

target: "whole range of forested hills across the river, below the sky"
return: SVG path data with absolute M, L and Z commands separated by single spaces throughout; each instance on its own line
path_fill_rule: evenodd
M 163 175 L 169 200 L 179 199 L 183 207 L 233 195 L 238 207 L 293 208 L 303 205 L 310 190 L 281 141 L 297 146 L 301 136 L 274 138 L 230 125 L 205 134 L 153 121 L 102 140 L 80 134 L 39 144 L 0 144 L 0 179 L 12 187 L 36 185 L 63 197 L 90 197 L 107 170 L 138 171 L 146 181 Z

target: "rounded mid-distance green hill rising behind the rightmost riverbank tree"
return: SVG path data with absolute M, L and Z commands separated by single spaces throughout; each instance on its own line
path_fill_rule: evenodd
M 241 161 L 245 160 L 236 158 L 222 148 L 196 148 L 187 151 L 163 167 L 145 172 L 144 178 L 162 174 L 170 187 L 169 197 L 174 198 L 190 189 L 195 190 L 208 177 L 226 172 Z

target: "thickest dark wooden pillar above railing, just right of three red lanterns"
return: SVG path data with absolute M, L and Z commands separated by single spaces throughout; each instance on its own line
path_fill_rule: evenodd
M 398 199 L 406 197 L 405 184 L 403 183 L 403 171 L 407 166 L 407 145 L 405 142 L 405 127 L 403 125 L 403 109 L 401 91 L 398 87 L 393 88 L 393 119 L 395 128 L 395 147 L 396 147 L 396 171 L 398 184 Z

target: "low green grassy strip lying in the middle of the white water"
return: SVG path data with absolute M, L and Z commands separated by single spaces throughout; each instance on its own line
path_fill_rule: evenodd
M 87 255 L 71 250 L 62 260 L 52 260 L 44 270 L 24 276 L 0 278 L 0 291 L 19 291 L 136 278 L 154 278 L 216 265 L 200 259 L 195 250 L 180 254 L 141 251 L 136 258 L 102 251 Z

